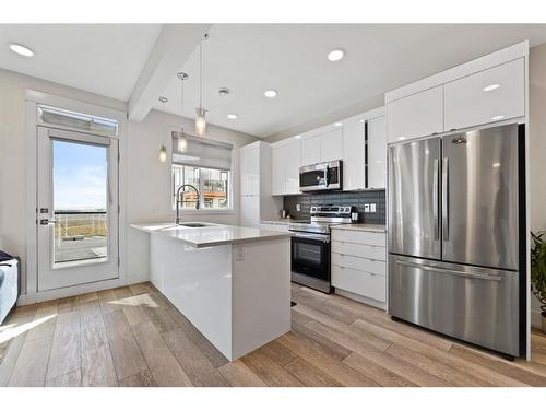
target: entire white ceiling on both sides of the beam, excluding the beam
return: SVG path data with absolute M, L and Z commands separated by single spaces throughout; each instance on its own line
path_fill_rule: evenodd
M 0 67 L 128 101 L 162 30 L 161 24 L 0 25 Z M 211 124 L 269 137 L 385 91 L 529 38 L 531 24 L 216 24 L 204 48 L 204 105 Z M 23 58 L 9 42 L 36 51 Z M 332 48 L 346 50 L 340 62 Z M 185 116 L 199 104 L 198 50 L 186 61 Z M 219 97 L 219 87 L 232 94 Z M 275 89 L 278 96 L 263 96 Z M 180 114 L 176 72 L 155 108 Z M 158 97 L 159 95 L 157 95 Z M 229 120 L 235 113 L 239 119 Z

